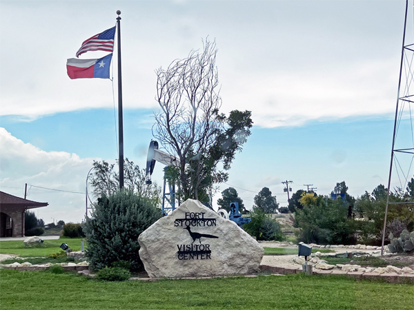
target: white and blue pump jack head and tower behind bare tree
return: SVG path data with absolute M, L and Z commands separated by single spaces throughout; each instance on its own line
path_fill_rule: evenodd
M 162 213 L 165 215 L 168 215 L 168 211 L 174 211 L 175 210 L 175 184 L 170 184 L 168 182 L 168 189 L 169 192 L 166 193 L 166 168 L 169 166 L 175 166 L 180 167 L 179 159 L 175 156 L 172 156 L 166 152 L 163 152 L 158 149 L 158 142 L 157 141 L 151 141 L 150 147 L 148 148 L 148 156 L 147 156 L 147 163 L 146 163 L 146 184 L 150 185 L 152 184 L 151 181 L 151 174 L 154 171 L 155 162 L 158 161 L 159 163 L 162 163 L 166 165 L 164 168 L 164 187 L 162 190 Z M 169 196 L 169 197 L 168 197 Z M 166 200 L 169 207 L 166 206 Z

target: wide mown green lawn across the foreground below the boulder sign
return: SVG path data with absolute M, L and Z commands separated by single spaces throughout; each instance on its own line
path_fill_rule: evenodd
M 0 269 L 1 309 L 413 309 L 413 285 L 345 276 L 99 282 Z

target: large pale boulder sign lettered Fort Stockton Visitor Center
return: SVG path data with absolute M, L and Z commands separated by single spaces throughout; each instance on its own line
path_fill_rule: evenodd
M 264 249 L 236 223 L 188 199 L 138 238 L 150 278 L 242 275 L 259 270 Z

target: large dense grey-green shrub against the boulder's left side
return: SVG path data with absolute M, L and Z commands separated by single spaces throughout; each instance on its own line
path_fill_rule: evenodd
M 92 269 L 114 267 L 125 260 L 131 271 L 142 268 L 138 236 L 161 218 L 161 209 L 147 198 L 121 190 L 98 199 L 92 218 L 86 218 L 83 231 L 88 248 L 86 257 Z

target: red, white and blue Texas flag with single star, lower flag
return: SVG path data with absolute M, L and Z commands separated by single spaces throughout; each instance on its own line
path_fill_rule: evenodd
M 66 68 L 70 79 L 109 79 L 112 54 L 99 59 L 68 59 Z

